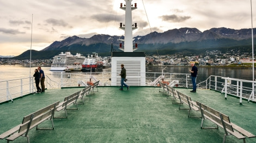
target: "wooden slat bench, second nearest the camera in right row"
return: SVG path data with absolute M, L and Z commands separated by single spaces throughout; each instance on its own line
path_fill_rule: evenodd
M 190 111 L 194 110 L 194 111 L 199 111 L 199 108 L 196 105 L 196 102 L 192 101 L 190 96 L 187 96 L 181 92 L 176 91 L 176 93 L 179 96 L 180 102 L 181 103 L 185 103 L 186 105 L 188 105 L 189 108 L 180 108 L 179 109 L 187 109 L 189 110 L 188 112 L 188 118 L 194 118 L 190 116 Z M 181 104 L 180 104 L 181 105 Z M 198 118 L 198 117 L 197 117 Z

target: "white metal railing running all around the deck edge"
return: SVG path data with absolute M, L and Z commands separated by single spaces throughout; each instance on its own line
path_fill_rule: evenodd
M 138 73 L 132 73 L 136 75 Z M 146 86 L 159 86 L 158 81 L 162 80 L 170 83 L 174 87 L 192 88 L 190 74 L 180 73 L 145 73 Z M 100 80 L 99 86 L 111 86 L 111 72 L 100 73 L 55 73 L 53 77 L 46 76 L 45 88 L 54 89 L 61 87 L 78 87 L 87 86 L 88 82 Z M 52 80 L 54 79 L 54 80 Z M 138 79 L 137 82 L 140 80 Z M 129 79 L 127 84 L 129 85 Z M 136 81 L 132 81 L 136 82 Z M 225 94 L 234 95 L 242 99 L 255 100 L 256 81 L 231 79 L 222 76 L 210 76 L 203 82 L 197 84 L 198 89 L 213 89 Z M 120 83 L 118 83 L 120 86 Z M 15 79 L 8 81 L 0 81 L 0 102 L 13 101 L 27 94 L 35 93 L 34 77 L 26 77 L 23 79 Z

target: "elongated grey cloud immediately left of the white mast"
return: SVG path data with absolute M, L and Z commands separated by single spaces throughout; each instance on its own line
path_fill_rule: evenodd
M 111 15 L 111 14 L 98 14 L 98 15 L 93 15 L 91 18 L 99 22 L 111 22 L 111 21 L 123 21 L 124 17 L 125 17 L 124 15 L 117 16 L 117 15 Z

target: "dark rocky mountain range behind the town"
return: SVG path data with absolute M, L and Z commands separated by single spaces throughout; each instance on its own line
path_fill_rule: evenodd
M 256 28 L 253 31 L 255 37 Z M 133 44 L 138 43 L 138 50 L 136 51 L 145 51 L 146 54 L 175 54 L 177 52 L 191 54 L 195 50 L 201 52 L 212 48 L 251 46 L 252 29 L 235 30 L 222 27 L 211 28 L 202 32 L 197 28 L 180 28 L 164 32 L 154 31 L 147 35 L 133 38 Z M 63 41 L 55 41 L 39 52 L 47 53 L 47 56 L 44 57 L 48 58 L 61 51 L 71 51 L 72 54 L 81 53 L 84 55 L 96 52 L 99 55 L 107 56 L 111 55 L 111 44 L 113 44 L 115 51 L 119 51 L 119 43 L 122 43 L 119 41 L 120 39 L 124 39 L 124 36 L 104 34 L 94 35 L 90 38 L 72 36 Z M 15 58 L 24 59 L 28 56 L 25 53 Z

